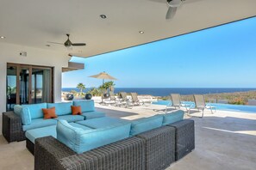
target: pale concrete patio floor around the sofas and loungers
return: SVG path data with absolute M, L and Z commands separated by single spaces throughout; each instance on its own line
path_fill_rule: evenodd
M 148 117 L 165 109 L 157 105 L 132 109 L 96 106 L 110 117 L 126 119 Z M 197 118 L 199 115 L 193 113 L 195 117 L 191 117 L 196 125 L 196 149 L 167 169 L 255 169 L 256 113 L 217 111 L 210 114 L 206 111 L 204 118 Z M 7 143 L 0 136 L 0 169 L 34 169 L 34 156 L 25 145 L 25 142 Z

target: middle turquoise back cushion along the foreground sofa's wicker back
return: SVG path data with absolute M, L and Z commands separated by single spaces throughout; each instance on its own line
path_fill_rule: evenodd
M 144 131 L 150 131 L 155 128 L 161 127 L 163 123 L 162 115 L 155 115 L 149 118 L 138 118 L 132 120 L 132 127 L 130 131 L 130 136 L 137 135 Z

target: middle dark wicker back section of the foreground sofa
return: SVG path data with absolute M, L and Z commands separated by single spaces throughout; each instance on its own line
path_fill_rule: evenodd
M 136 137 L 145 143 L 146 170 L 162 170 L 175 161 L 175 128 L 163 126 Z

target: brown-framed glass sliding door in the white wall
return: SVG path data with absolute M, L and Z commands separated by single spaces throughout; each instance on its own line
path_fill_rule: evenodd
M 6 110 L 16 104 L 53 102 L 53 68 L 7 64 Z

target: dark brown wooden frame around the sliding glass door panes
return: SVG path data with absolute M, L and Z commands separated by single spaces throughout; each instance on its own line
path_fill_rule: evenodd
M 51 75 L 51 79 L 50 79 L 50 84 L 52 85 L 52 87 L 50 88 L 50 102 L 53 102 L 54 100 L 54 67 L 51 66 L 42 66 L 42 65 L 34 65 L 34 64 L 14 64 L 14 63 L 7 63 L 6 64 L 6 69 L 8 67 L 16 67 L 16 104 L 20 104 L 20 71 L 21 68 L 25 67 L 28 68 L 28 104 L 32 103 L 32 69 L 44 69 L 44 70 L 50 70 L 50 75 Z M 6 75 L 7 76 L 7 75 Z M 7 93 L 7 92 L 6 92 Z M 7 94 L 5 94 L 7 95 Z

